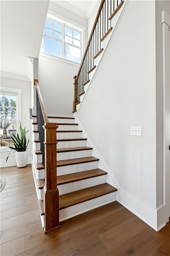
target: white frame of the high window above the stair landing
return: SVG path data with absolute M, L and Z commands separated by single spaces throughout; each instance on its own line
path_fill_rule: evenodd
M 52 14 L 51 14 L 52 13 Z M 60 16 L 60 15 L 59 15 Z M 61 40 L 58 40 L 56 38 L 52 38 L 50 36 L 46 36 L 46 37 L 49 37 L 49 38 L 52 38 L 56 41 L 59 41 L 59 42 L 62 42 L 62 57 L 57 57 L 55 55 L 51 55 L 51 54 L 48 54 L 48 53 L 45 53 L 44 52 L 44 34 L 43 34 L 43 37 L 42 37 L 42 44 L 41 44 L 41 52 L 40 54 L 42 56 L 45 56 L 45 57 L 49 57 L 49 58 L 52 58 L 52 59 L 56 59 L 56 60 L 59 60 L 59 61 L 62 61 L 62 62 L 66 62 L 66 63 L 69 63 L 69 64 L 73 64 L 73 65 L 76 65 L 76 66 L 80 66 L 80 63 L 81 63 L 81 60 L 80 60 L 80 63 L 78 62 L 74 62 L 74 61 L 71 61 L 71 60 L 67 60 L 65 58 L 65 44 L 67 45 L 70 45 L 70 46 L 73 46 L 73 47 L 76 47 L 78 49 L 81 50 L 81 59 L 82 59 L 82 56 L 83 56 L 83 53 L 84 53 L 84 35 L 85 35 L 85 27 L 81 26 L 81 25 L 78 25 L 77 23 L 75 22 L 71 22 L 69 21 L 68 19 L 60 16 L 60 17 L 56 17 L 54 15 L 54 13 L 52 11 L 50 11 L 50 13 L 47 14 L 47 19 L 50 19 L 50 20 L 53 20 L 59 24 L 62 25 L 62 41 Z M 73 24 L 74 23 L 74 24 Z M 66 43 L 65 42 L 65 27 L 68 27 L 72 30 L 75 30 L 77 32 L 80 33 L 80 47 L 77 47 L 73 44 L 69 44 L 69 43 Z

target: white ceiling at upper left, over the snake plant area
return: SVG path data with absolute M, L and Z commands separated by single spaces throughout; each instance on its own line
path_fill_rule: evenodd
M 27 75 L 28 56 L 38 58 L 48 0 L 1 1 L 1 71 Z

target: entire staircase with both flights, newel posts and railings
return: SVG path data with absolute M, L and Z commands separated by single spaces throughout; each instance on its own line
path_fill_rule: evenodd
M 101 1 L 78 74 L 74 76 L 73 117 L 47 116 L 38 80 L 34 79 L 36 115 L 32 116 L 32 166 L 45 233 L 59 228 L 59 221 L 117 198 L 117 188 L 107 183 L 108 173 L 99 168 L 100 159 L 94 157 L 93 148 L 87 146 L 87 138 L 82 137 L 83 131 L 75 123 L 75 117 L 123 3 Z

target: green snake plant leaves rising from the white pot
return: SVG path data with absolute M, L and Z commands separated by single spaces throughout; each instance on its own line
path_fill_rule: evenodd
M 19 121 L 20 122 L 20 121 Z M 27 131 L 28 132 L 28 131 Z M 15 150 L 17 152 L 23 152 L 23 151 L 26 151 L 27 148 L 28 148 L 28 143 L 29 143 L 29 139 L 28 139 L 28 142 L 27 142 L 27 139 L 26 139 L 26 127 L 22 128 L 22 125 L 21 125 L 21 122 L 20 122 L 20 133 L 21 133 L 21 137 L 19 136 L 19 134 L 17 133 L 17 135 L 12 135 L 11 136 L 11 139 L 13 140 L 14 142 L 14 146 L 9 146 L 9 148 L 12 150 Z M 9 152 L 8 154 L 8 157 L 9 155 L 11 154 L 11 151 Z M 8 160 L 8 157 L 6 159 L 6 162 Z

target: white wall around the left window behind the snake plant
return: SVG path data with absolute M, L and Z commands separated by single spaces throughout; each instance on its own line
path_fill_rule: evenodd
M 6 77 L 0 77 L 0 85 L 4 87 L 17 88 L 22 90 L 21 94 L 21 123 L 22 126 L 26 126 L 29 132 L 27 133 L 27 139 L 30 139 L 29 147 L 28 147 L 28 163 L 31 163 L 31 140 L 32 140 L 32 120 L 29 119 L 29 111 L 31 108 L 31 82 L 11 79 Z M 0 149 L 2 150 L 2 149 Z M 11 154 L 7 163 L 6 158 L 9 154 L 9 151 L 6 149 L 4 152 L 0 151 L 0 166 L 10 166 L 16 165 L 15 153 Z

